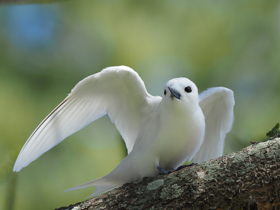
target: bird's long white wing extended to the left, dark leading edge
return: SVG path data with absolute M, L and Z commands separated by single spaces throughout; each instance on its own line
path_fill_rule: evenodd
M 144 82 L 127 66 L 108 67 L 83 79 L 34 130 L 20 151 L 13 171 L 19 171 L 107 113 L 130 152 L 143 118 L 141 110 L 151 98 Z

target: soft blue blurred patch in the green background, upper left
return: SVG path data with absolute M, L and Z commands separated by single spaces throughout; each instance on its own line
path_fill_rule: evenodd
M 59 10 L 56 5 L 16 5 L 4 9 L 4 28 L 20 48 L 45 48 L 56 41 Z

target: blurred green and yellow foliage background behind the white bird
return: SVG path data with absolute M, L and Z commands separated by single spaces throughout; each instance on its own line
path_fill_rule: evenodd
M 127 151 L 108 117 L 68 137 L 20 172 L 27 138 L 83 78 L 132 67 L 152 95 L 187 77 L 199 91 L 235 94 L 225 153 L 267 139 L 280 122 L 279 1 L 62 1 L 0 5 L 0 209 L 55 209 L 94 188 Z

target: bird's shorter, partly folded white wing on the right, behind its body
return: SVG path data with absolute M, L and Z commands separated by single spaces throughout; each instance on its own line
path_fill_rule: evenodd
M 223 155 L 225 136 L 234 121 L 233 91 L 224 87 L 208 88 L 199 94 L 199 106 L 205 117 L 205 136 L 193 162 L 201 163 Z

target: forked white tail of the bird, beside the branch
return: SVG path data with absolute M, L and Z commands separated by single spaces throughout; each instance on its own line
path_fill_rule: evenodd
M 91 186 L 95 186 L 95 190 L 90 196 L 86 197 L 86 199 L 93 197 L 95 195 L 99 195 L 104 192 L 108 192 L 109 190 L 113 190 L 113 189 L 119 187 L 115 184 L 110 184 L 109 181 L 106 180 L 106 176 L 103 176 L 99 179 L 95 179 L 95 180 L 83 183 L 81 185 L 74 186 L 68 190 L 65 190 L 64 192 L 71 191 L 71 190 L 80 190 L 80 189 L 83 189 L 86 187 L 91 187 Z

